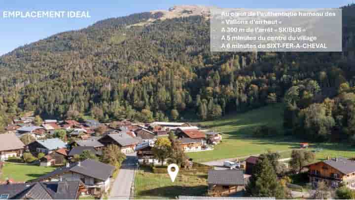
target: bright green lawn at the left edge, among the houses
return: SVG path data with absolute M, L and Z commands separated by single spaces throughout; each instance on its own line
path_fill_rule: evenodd
M 22 182 L 36 179 L 43 174 L 51 172 L 55 167 L 44 167 L 38 165 L 26 165 L 12 162 L 5 162 L 2 168 L 1 181 L 5 181 L 6 178 L 11 178 L 14 181 Z

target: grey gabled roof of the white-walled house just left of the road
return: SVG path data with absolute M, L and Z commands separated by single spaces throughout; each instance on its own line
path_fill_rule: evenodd
M 76 162 L 70 165 L 69 167 L 64 166 L 57 168 L 56 170 L 45 174 L 35 179 L 34 181 L 41 181 L 69 171 L 93 177 L 102 181 L 106 181 L 106 179 L 112 175 L 114 168 L 114 166 L 105 164 L 103 162 L 86 159 L 82 162 Z

